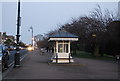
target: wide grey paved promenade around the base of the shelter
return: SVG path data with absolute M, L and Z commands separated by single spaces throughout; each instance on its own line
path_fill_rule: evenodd
M 51 54 L 29 52 L 20 68 L 13 68 L 4 79 L 118 79 L 116 62 L 75 58 L 73 64 L 49 64 Z

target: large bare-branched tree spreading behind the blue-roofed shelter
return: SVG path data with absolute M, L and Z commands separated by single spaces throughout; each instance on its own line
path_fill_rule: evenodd
M 61 29 L 79 36 L 79 41 L 73 45 L 78 50 L 86 50 L 89 48 L 95 56 L 100 56 L 101 47 L 104 47 L 106 42 L 106 32 L 108 25 L 113 21 L 114 14 L 106 9 L 103 13 L 101 7 L 97 5 L 90 15 L 82 16 L 79 18 L 72 18 L 70 23 L 59 25 L 58 29 L 48 32 L 43 41 L 58 32 Z M 41 41 L 39 41 L 40 43 Z M 43 44 L 43 43 L 42 43 Z M 44 42 L 47 46 L 48 42 Z M 91 49 L 92 48 L 92 49 Z M 102 55 L 102 54 L 101 54 Z

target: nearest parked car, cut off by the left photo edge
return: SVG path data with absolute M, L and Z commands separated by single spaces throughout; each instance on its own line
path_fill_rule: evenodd
M 7 47 L 0 44 L 0 71 L 8 68 L 9 55 Z

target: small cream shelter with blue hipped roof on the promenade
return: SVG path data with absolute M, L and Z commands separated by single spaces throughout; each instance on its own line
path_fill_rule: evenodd
M 78 41 L 78 36 L 75 36 L 65 30 L 61 30 L 52 34 L 48 41 L 54 42 L 54 54 L 51 58 L 53 63 L 74 62 L 70 53 L 70 43 Z

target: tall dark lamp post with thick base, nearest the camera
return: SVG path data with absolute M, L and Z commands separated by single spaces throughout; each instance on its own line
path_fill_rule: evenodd
M 19 49 L 19 37 L 20 37 L 20 0 L 18 1 L 18 17 L 17 17 L 17 35 L 16 35 L 16 53 L 15 53 L 15 64 L 14 67 L 19 67 L 20 66 L 20 49 Z

